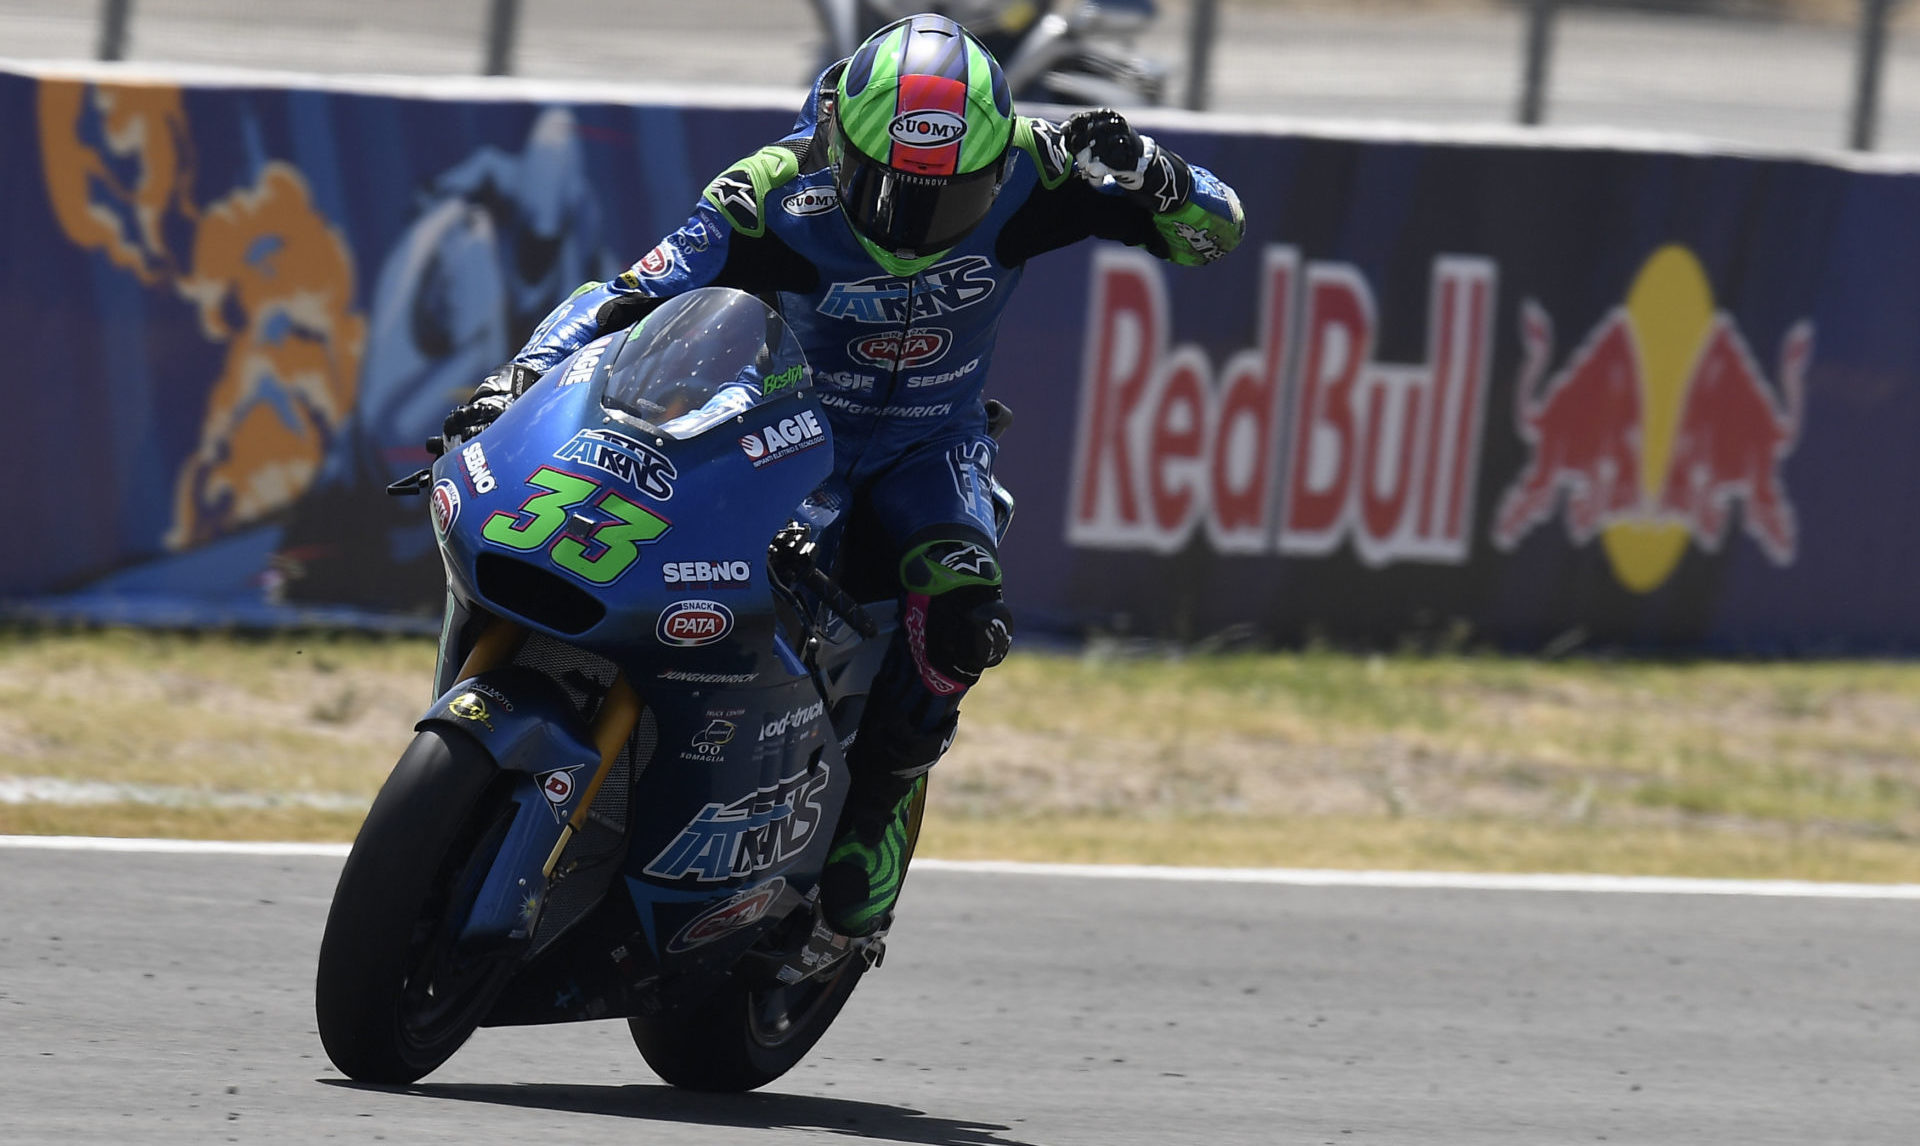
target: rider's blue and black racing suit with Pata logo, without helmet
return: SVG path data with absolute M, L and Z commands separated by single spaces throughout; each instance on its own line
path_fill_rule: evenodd
M 895 672 L 883 672 L 897 687 L 876 681 L 876 701 L 908 718 L 887 754 L 891 772 L 912 776 L 945 747 L 960 693 L 985 668 L 979 660 L 1004 655 L 987 495 L 995 443 L 981 390 L 1021 269 L 1092 236 L 1210 263 L 1240 240 L 1244 217 L 1227 184 L 1165 152 L 1185 194 L 1142 202 L 1112 180 L 1096 186 L 1075 171 L 1058 125 L 1020 117 L 985 221 L 935 265 L 893 276 L 841 215 L 824 134 L 814 138 L 837 67 L 814 84 L 785 138 L 714 179 L 687 223 L 624 275 L 580 288 L 515 361 L 547 370 L 659 299 L 701 286 L 747 290 L 781 313 L 828 407 L 835 478 L 874 513 L 900 561 L 902 637 L 889 657 Z M 883 739 L 870 735 L 874 708 L 860 741 Z

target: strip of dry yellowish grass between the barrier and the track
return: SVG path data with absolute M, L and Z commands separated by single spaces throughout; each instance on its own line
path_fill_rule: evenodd
M 0 831 L 349 839 L 432 660 L 0 633 L 0 783 L 186 789 L 0 802 Z M 1920 879 L 1920 666 L 1027 653 L 933 793 L 945 856 Z M 276 802 L 303 795 L 334 806 Z

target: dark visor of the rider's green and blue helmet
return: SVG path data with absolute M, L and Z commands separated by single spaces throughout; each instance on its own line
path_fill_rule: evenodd
M 979 227 L 1000 194 L 1004 163 L 964 175 L 908 175 L 854 148 L 833 123 L 833 186 L 852 228 L 906 259 L 945 251 Z

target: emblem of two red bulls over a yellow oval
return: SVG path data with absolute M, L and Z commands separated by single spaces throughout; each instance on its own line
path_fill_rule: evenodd
M 1665 246 L 1542 386 L 1553 319 L 1528 299 L 1513 418 L 1532 461 L 1500 499 L 1494 543 L 1513 549 L 1565 513 L 1574 545 L 1597 536 L 1619 582 L 1649 593 L 1690 539 L 1718 553 L 1738 505 L 1761 553 L 1791 564 L 1799 532 L 1780 465 L 1799 442 L 1812 336 L 1801 321 L 1782 338 L 1776 399 L 1699 259 Z

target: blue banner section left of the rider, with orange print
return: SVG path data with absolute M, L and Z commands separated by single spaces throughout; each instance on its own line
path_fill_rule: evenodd
M 382 488 L 555 301 L 791 121 L 0 73 L 0 478 L 31 491 L 0 595 L 438 618 L 424 505 Z

